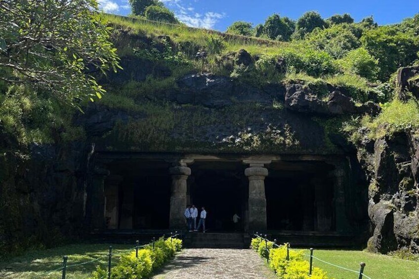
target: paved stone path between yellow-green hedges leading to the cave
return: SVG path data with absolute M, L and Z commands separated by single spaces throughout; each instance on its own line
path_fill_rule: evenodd
M 153 279 L 274 279 L 251 249 L 185 249 Z

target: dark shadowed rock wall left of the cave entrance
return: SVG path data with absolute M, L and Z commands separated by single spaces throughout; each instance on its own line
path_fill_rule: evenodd
M 0 157 L 0 247 L 51 246 L 84 227 L 86 146 L 32 146 Z

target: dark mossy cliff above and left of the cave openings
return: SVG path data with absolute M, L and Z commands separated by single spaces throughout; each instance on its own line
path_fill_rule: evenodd
M 129 69 L 121 75 L 126 71 Z M 130 77 L 135 77 L 135 71 Z M 118 82 L 127 80 L 118 75 L 108 80 L 117 87 Z M 89 158 L 95 152 L 339 154 L 354 158 L 355 150 L 335 129 L 334 121 L 377 110 L 369 104 L 355 106 L 333 86 L 320 98 L 300 83 L 258 87 L 198 73 L 175 82 L 175 87 L 162 94 L 141 98 L 134 110 L 90 104 L 74 120 L 84 127 L 82 142 L 33 145 L 25 157 L 5 153 L 0 169 L 3 248 L 13 251 L 40 242 L 52 245 L 88 232 L 86 196 L 93 171 Z

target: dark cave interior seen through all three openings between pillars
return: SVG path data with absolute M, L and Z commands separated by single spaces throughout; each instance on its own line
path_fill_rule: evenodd
M 169 228 L 170 163 L 164 160 L 120 159 L 107 165 L 105 180 L 108 229 Z M 246 228 L 249 180 L 241 161 L 195 161 L 189 165 L 188 202 L 207 210 L 207 229 L 229 232 Z M 334 231 L 333 166 L 322 161 L 277 161 L 265 178 L 267 229 Z M 317 185 L 317 186 L 315 186 Z M 319 206 L 321 197 L 322 209 Z M 237 227 L 232 221 L 237 213 Z M 324 215 L 324 216 L 323 216 Z M 324 219 L 322 229 L 318 219 Z M 326 225 L 325 225 L 326 224 Z

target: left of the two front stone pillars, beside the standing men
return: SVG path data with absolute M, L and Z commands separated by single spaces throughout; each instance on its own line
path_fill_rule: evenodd
M 184 229 L 185 216 L 183 215 L 186 208 L 186 193 L 188 176 L 191 175 L 191 169 L 186 166 L 193 160 L 178 160 L 172 163 L 169 168 L 171 174 L 171 197 L 170 197 L 170 229 Z

